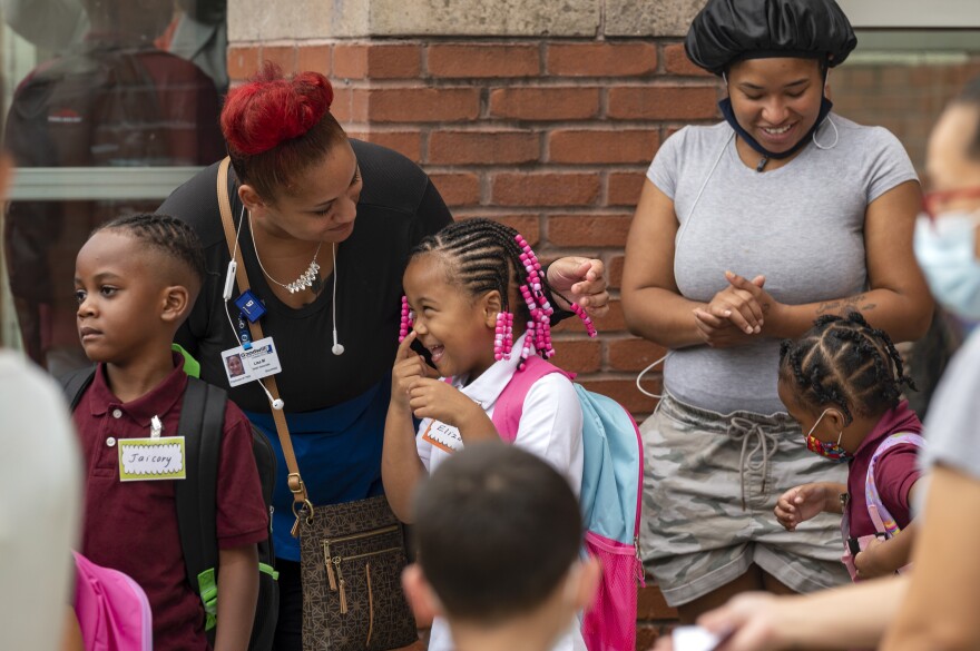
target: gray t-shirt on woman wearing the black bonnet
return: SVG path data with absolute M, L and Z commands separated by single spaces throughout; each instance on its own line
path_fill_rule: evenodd
M 746 278 L 765 275 L 765 289 L 791 305 L 866 288 L 868 205 L 915 179 L 915 170 L 886 129 L 833 114 L 831 120 L 836 145 L 810 144 L 787 165 L 764 174 L 738 158 L 727 122 L 686 127 L 664 142 L 647 177 L 674 200 L 680 224 L 674 277 L 683 296 L 710 300 L 727 286 L 726 269 Z M 824 122 L 817 141 L 826 147 L 834 139 L 833 127 Z M 778 341 L 759 338 L 727 349 L 673 351 L 664 366 L 665 386 L 678 400 L 723 414 L 782 412 L 778 348 Z

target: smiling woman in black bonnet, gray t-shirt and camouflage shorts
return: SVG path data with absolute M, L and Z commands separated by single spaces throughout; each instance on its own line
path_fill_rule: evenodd
M 832 111 L 830 72 L 856 42 L 833 0 L 708 0 L 687 34 L 724 81 L 725 120 L 657 152 L 623 278 L 629 328 L 668 348 L 641 427 L 641 546 L 685 622 L 746 590 L 847 581 L 840 516 L 787 532 L 773 515 L 793 486 L 845 477 L 780 400 L 780 341 L 854 309 L 896 342 L 929 325 L 912 164 L 885 129 Z

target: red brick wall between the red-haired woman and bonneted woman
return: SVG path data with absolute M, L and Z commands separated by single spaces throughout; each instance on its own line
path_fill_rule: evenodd
M 395 149 L 432 177 L 458 219 L 483 216 L 520 230 L 539 255 L 605 260 L 609 315 L 588 339 L 556 328 L 557 361 L 638 421 L 656 402 L 635 386 L 659 346 L 630 336 L 619 303 L 623 248 L 644 174 L 677 128 L 717 119 L 718 87 L 676 40 L 371 40 L 241 45 L 233 81 L 259 61 L 317 70 L 353 137 Z M 656 392 L 659 374 L 645 386 Z M 676 620 L 659 591 L 640 591 L 638 649 Z

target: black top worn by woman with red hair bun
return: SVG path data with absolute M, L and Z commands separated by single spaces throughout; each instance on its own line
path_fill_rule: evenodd
M 378 145 L 351 140 L 361 168 L 363 189 L 351 236 L 336 249 L 337 341 L 333 346 L 333 276 L 323 292 L 298 309 L 283 304 L 270 289 L 258 267 L 248 220 L 238 246 L 252 290 L 265 303 L 261 324 L 273 337 L 283 372 L 276 375 L 286 412 L 322 410 L 359 396 L 385 377 L 394 363 L 401 317 L 402 274 L 409 251 L 425 235 L 438 231 L 452 216 L 432 181 L 408 158 Z M 268 412 L 268 398 L 254 382 L 228 386 L 222 351 L 238 345 L 225 316 L 222 292 L 231 256 L 215 194 L 218 165 L 212 165 L 174 190 L 159 213 L 180 218 L 204 244 L 208 277 L 190 317 L 177 333 L 177 343 L 200 362 L 200 377 L 225 388 L 242 408 Z M 237 226 L 242 203 L 234 170 L 228 172 L 228 197 Z M 329 256 L 324 247 L 321 256 Z M 234 297 L 237 297 L 235 290 Z M 237 324 L 238 308 L 228 302 Z

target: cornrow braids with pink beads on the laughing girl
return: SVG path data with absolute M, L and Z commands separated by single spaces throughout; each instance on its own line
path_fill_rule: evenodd
M 497 315 L 493 349 L 496 359 L 509 359 L 513 344 L 511 288 L 517 289 L 523 298 L 523 304 L 518 308 L 519 318 L 527 326 L 521 367 L 523 359 L 531 354 L 532 346 L 541 357 L 548 358 L 555 354 L 551 346 L 551 315 L 555 310 L 545 293 L 555 292 L 548 285 L 535 251 L 517 230 L 490 219 L 457 221 L 422 239 L 412 249 L 410 260 L 429 253 L 447 257 L 453 280 L 470 295 L 478 296 L 494 289 L 500 293 L 501 312 Z M 578 306 L 572 304 L 572 307 Z M 581 309 L 574 312 L 586 323 L 589 335 L 595 336 L 595 328 L 591 327 L 588 316 Z M 401 322 L 400 341 L 412 327 L 412 314 L 404 297 Z

